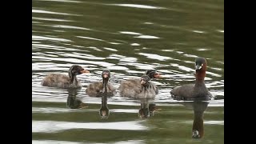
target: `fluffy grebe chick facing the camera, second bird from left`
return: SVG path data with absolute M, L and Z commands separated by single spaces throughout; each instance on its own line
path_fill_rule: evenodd
M 102 97 L 102 93 L 106 93 L 108 97 L 114 96 L 116 94 L 116 90 L 114 86 L 108 82 L 109 78 L 110 70 L 103 70 L 102 82 L 91 83 L 86 89 L 86 94 L 90 97 Z

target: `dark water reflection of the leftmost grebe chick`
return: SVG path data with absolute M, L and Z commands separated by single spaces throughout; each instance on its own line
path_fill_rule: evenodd
M 70 109 L 81 109 L 88 107 L 86 106 L 86 103 L 77 98 L 78 90 L 70 89 L 68 90 L 68 94 L 66 106 L 68 106 Z

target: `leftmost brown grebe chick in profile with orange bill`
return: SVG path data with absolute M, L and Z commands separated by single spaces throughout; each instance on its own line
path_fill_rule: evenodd
M 73 65 L 68 71 L 69 75 L 49 74 L 42 79 L 41 84 L 42 86 L 58 87 L 62 89 L 81 88 L 80 81 L 76 76 L 82 73 L 90 73 L 90 71 L 83 69 L 82 66 Z

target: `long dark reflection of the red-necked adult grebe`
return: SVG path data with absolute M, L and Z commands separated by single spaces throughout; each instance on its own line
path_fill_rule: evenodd
M 182 103 L 186 108 L 194 110 L 194 122 L 192 126 L 192 138 L 202 138 L 204 135 L 203 114 L 209 102 L 194 100 Z

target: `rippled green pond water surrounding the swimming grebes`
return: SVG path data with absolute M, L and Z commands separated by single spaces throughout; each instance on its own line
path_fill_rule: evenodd
M 207 60 L 214 98 L 174 100 L 174 86 L 194 82 L 197 57 Z M 67 74 L 74 64 L 90 70 L 78 75 L 82 89 L 41 86 L 46 74 Z M 141 102 L 117 93 L 102 118 L 102 98 L 86 87 L 102 81 L 103 69 L 115 88 L 158 70 L 150 103 L 159 110 L 140 118 Z M 194 126 L 202 138 L 192 138 Z M 32 143 L 224 143 L 224 2 L 32 0 Z

